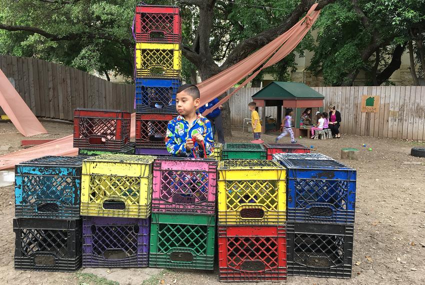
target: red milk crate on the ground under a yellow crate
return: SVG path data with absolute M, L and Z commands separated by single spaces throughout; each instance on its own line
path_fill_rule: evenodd
M 286 227 L 218 226 L 220 281 L 285 281 Z

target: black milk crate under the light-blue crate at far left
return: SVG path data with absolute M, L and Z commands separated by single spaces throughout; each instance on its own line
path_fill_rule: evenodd
M 81 219 L 14 218 L 16 270 L 73 272 L 81 267 Z

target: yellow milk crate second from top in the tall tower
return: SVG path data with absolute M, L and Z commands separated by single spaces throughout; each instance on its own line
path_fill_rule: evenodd
M 136 43 L 137 77 L 180 77 L 178 43 Z

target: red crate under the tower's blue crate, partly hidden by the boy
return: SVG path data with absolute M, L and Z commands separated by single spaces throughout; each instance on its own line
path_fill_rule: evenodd
M 164 148 L 168 122 L 174 116 L 136 113 L 136 148 Z

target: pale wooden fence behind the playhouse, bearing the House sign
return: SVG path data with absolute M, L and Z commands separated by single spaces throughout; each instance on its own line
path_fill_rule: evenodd
M 313 87 L 321 93 L 325 110 L 332 103 L 341 112 L 342 133 L 425 140 L 425 86 Z M 249 118 L 247 104 L 259 88 L 241 88 L 230 98 L 231 123 Z M 379 111 L 361 112 L 362 95 L 379 96 Z M 261 108 L 260 108 L 261 109 Z M 275 117 L 276 107 L 266 107 Z M 261 110 L 260 110 L 261 113 Z

